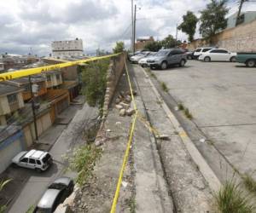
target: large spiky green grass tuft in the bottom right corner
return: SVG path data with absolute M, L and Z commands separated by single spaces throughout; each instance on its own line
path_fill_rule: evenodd
M 233 181 L 226 181 L 215 198 L 220 213 L 255 212 L 250 196 L 247 196 Z

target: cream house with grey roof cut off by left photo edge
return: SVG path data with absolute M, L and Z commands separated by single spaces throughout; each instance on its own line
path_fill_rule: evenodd
M 24 107 L 23 88 L 0 83 L 0 125 L 11 123 L 12 115 Z

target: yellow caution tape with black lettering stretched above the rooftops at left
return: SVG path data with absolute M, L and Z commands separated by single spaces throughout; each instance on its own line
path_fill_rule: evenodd
M 100 57 L 93 57 L 90 59 L 69 61 L 69 62 L 55 64 L 55 65 L 41 66 L 41 67 L 25 69 L 25 70 L 18 70 L 18 71 L 14 71 L 14 72 L 4 72 L 4 73 L 0 74 L 0 82 L 15 79 L 15 78 L 26 77 L 26 76 L 30 76 L 30 75 L 40 74 L 40 73 L 48 72 L 50 70 L 60 69 L 60 68 L 67 67 L 67 66 L 79 65 L 80 63 L 86 63 L 86 62 L 90 62 L 93 60 L 107 59 L 107 58 L 111 58 L 116 55 L 119 55 L 119 54 L 104 55 L 104 56 L 100 56 Z

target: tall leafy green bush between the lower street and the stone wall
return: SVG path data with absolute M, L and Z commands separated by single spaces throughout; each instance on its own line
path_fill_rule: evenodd
M 82 94 L 90 107 L 101 108 L 103 105 L 108 65 L 109 60 L 97 60 L 80 69 L 83 81 Z

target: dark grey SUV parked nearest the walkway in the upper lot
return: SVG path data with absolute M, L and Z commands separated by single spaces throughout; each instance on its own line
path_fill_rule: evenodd
M 183 49 L 160 49 L 154 56 L 148 57 L 147 64 L 150 68 L 160 67 L 165 70 L 169 65 L 178 64 L 184 66 L 187 62 L 187 55 Z

